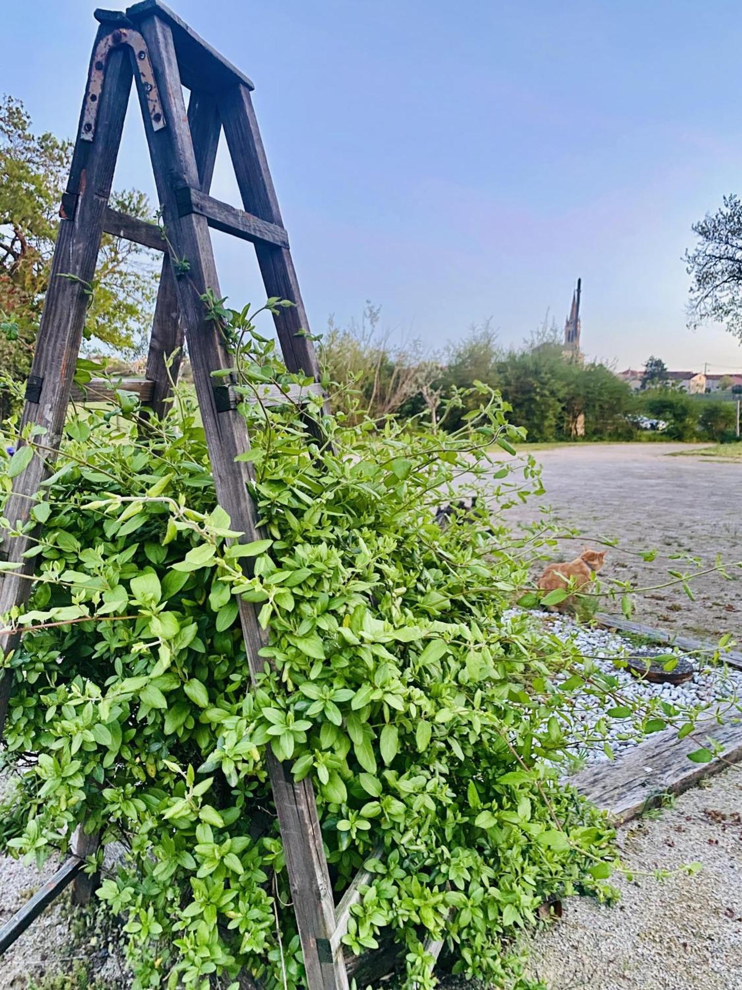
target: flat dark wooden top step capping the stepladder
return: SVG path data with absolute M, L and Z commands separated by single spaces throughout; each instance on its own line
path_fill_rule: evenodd
M 188 89 L 218 93 L 236 83 L 241 83 L 248 89 L 255 88 L 243 72 L 213 49 L 169 7 L 160 3 L 160 0 L 141 0 L 141 3 L 127 8 L 130 21 L 141 21 L 152 14 L 156 14 L 170 26 L 180 81 Z

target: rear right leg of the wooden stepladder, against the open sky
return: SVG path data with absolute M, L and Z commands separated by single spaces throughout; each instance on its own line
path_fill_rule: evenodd
M 260 220 L 283 227 L 249 90 L 243 85 L 232 86 L 220 94 L 219 105 L 242 206 Z M 266 294 L 295 303 L 273 318 L 286 367 L 319 380 L 320 364 L 315 346 L 306 336 L 309 321 L 291 252 L 288 247 L 257 243 L 255 254 Z

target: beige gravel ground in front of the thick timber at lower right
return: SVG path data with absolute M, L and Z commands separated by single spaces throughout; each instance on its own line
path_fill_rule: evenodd
M 564 917 L 528 940 L 530 974 L 549 990 L 742 990 L 742 773 L 678 798 L 619 832 L 632 881 L 612 907 L 564 902 Z M 695 876 L 639 871 L 700 861 Z

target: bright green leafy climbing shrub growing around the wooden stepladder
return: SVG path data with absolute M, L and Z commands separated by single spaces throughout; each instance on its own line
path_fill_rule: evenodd
M 207 302 L 229 342 L 250 341 L 243 391 L 296 380 L 245 312 Z M 570 693 L 609 679 L 565 680 L 574 650 L 504 615 L 528 557 L 497 515 L 434 522 L 464 472 L 495 471 L 501 504 L 540 490 L 531 462 L 524 481 L 490 463 L 519 434 L 479 392 L 442 436 L 347 429 L 315 404 L 311 435 L 289 402 L 242 406 L 263 534 L 247 545 L 216 505 L 187 392 L 161 422 L 67 423 L 33 510 L 35 590 L 6 617 L 26 629 L 5 661 L 6 759 L 24 772 L 0 847 L 41 863 L 83 821 L 124 841 L 99 897 L 125 916 L 136 990 L 207 990 L 242 966 L 302 985 L 268 746 L 312 778 L 336 890 L 372 872 L 348 951 L 391 937 L 408 985 L 431 983 L 426 938 L 446 938 L 462 973 L 516 979 L 510 938 L 539 905 L 601 891 L 610 831 L 557 768 L 579 731 Z M 4 493 L 23 449 L 2 462 Z M 257 690 L 238 597 L 270 624 Z

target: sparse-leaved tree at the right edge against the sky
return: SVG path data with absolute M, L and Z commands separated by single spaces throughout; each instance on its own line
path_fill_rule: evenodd
M 720 209 L 713 216 L 707 213 L 692 230 L 698 241 L 685 256 L 693 278 L 689 326 L 721 323 L 742 340 L 742 201 L 724 196 Z

